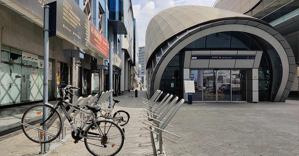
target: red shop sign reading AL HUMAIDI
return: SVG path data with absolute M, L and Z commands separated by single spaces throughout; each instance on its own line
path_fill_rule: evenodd
M 104 56 L 103 59 L 109 59 L 109 43 L 91 21 L 88 21 L 88 45 Z

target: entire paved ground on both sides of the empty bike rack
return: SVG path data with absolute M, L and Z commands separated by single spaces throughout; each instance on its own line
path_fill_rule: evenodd
M 120 97 L 117 109 L 129 112 L 131 118 L 124 127 L 126 140 L 118 156 L 153 155 L 149 131 L 143 127 L 144 119 L 141 97 L 146 91 L 129 92 Z M 12 120 L 12 119 L 11 119 Z M 2 118 L 0 119 L 2 125 Z M 15 120 L 16 121 L 16 120 Z M 286 103 L 213 103 L 183 104 L 166 130 L 180 135 L 165 136 L 168 156 L 298 156 L 299 155 L 299 101 Z M 158 147 L 157 147 L 158 148 Z M 40 146 L 32 143 L 22 130 L 0 137 L 0 155 L 35 156 Z M 84 143 L 73 139 L 57 149 L 51 156 L 81 156 L 91 154 Z

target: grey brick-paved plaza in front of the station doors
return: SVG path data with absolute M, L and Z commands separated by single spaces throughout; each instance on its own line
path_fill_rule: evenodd
M 298 156 L 299 102 L 193 103 L 183 105 L 168 128 L 167 156 Z

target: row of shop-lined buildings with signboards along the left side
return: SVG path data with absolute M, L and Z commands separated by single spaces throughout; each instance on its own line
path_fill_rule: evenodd
M 43 6 L 53 1 L 0 2 L 0 106 L 42 100 Z M 109 90 L 109 83 L 114 94 L 120 92 L 122 36 L 126 29 L 133 30 L 133 25 L 125 25 L 126 5 L 132 6 L 130 1 L 115 0 L 57 1 L 57 36 L 49 38 L 49 65 L 45 65 L 48 98 L 60 97 L 59 88 L 66 84 L 80 88 L 75 97 Z

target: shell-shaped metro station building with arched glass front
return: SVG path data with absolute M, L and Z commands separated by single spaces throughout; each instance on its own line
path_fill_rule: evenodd
M 149 22 L 145 47 L 149 97 L 161 89 L 188 101 L 194 87 L 193 101 L 285 102 L 294 82 L 295 56 L 286 39 L 241 13 L 165 9 Z

